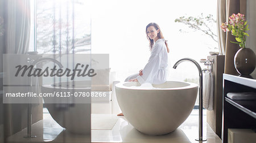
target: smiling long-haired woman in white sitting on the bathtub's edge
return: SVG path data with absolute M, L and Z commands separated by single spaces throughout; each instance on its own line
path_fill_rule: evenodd
M 162 84 L 167 80 L 167 66 L 169 48 L 167 41 L 156 23 L 150 23 L 146 27 L 147 39 L 150 41 L 150 59 L 139 75 L 131 75 L 125 81 L 138 81 L 140 84 Z M 123 116 L 122 113 L 118 116 Z

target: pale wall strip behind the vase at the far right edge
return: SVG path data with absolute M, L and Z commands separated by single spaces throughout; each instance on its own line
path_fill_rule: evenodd
M 246 39 L 246 47 L 250 47 L 256 54 L 256 1 L 247 0 L 246 19 L 249 25 L 249 37 Z M 256 70 L 252 74 L 256 74 Z

